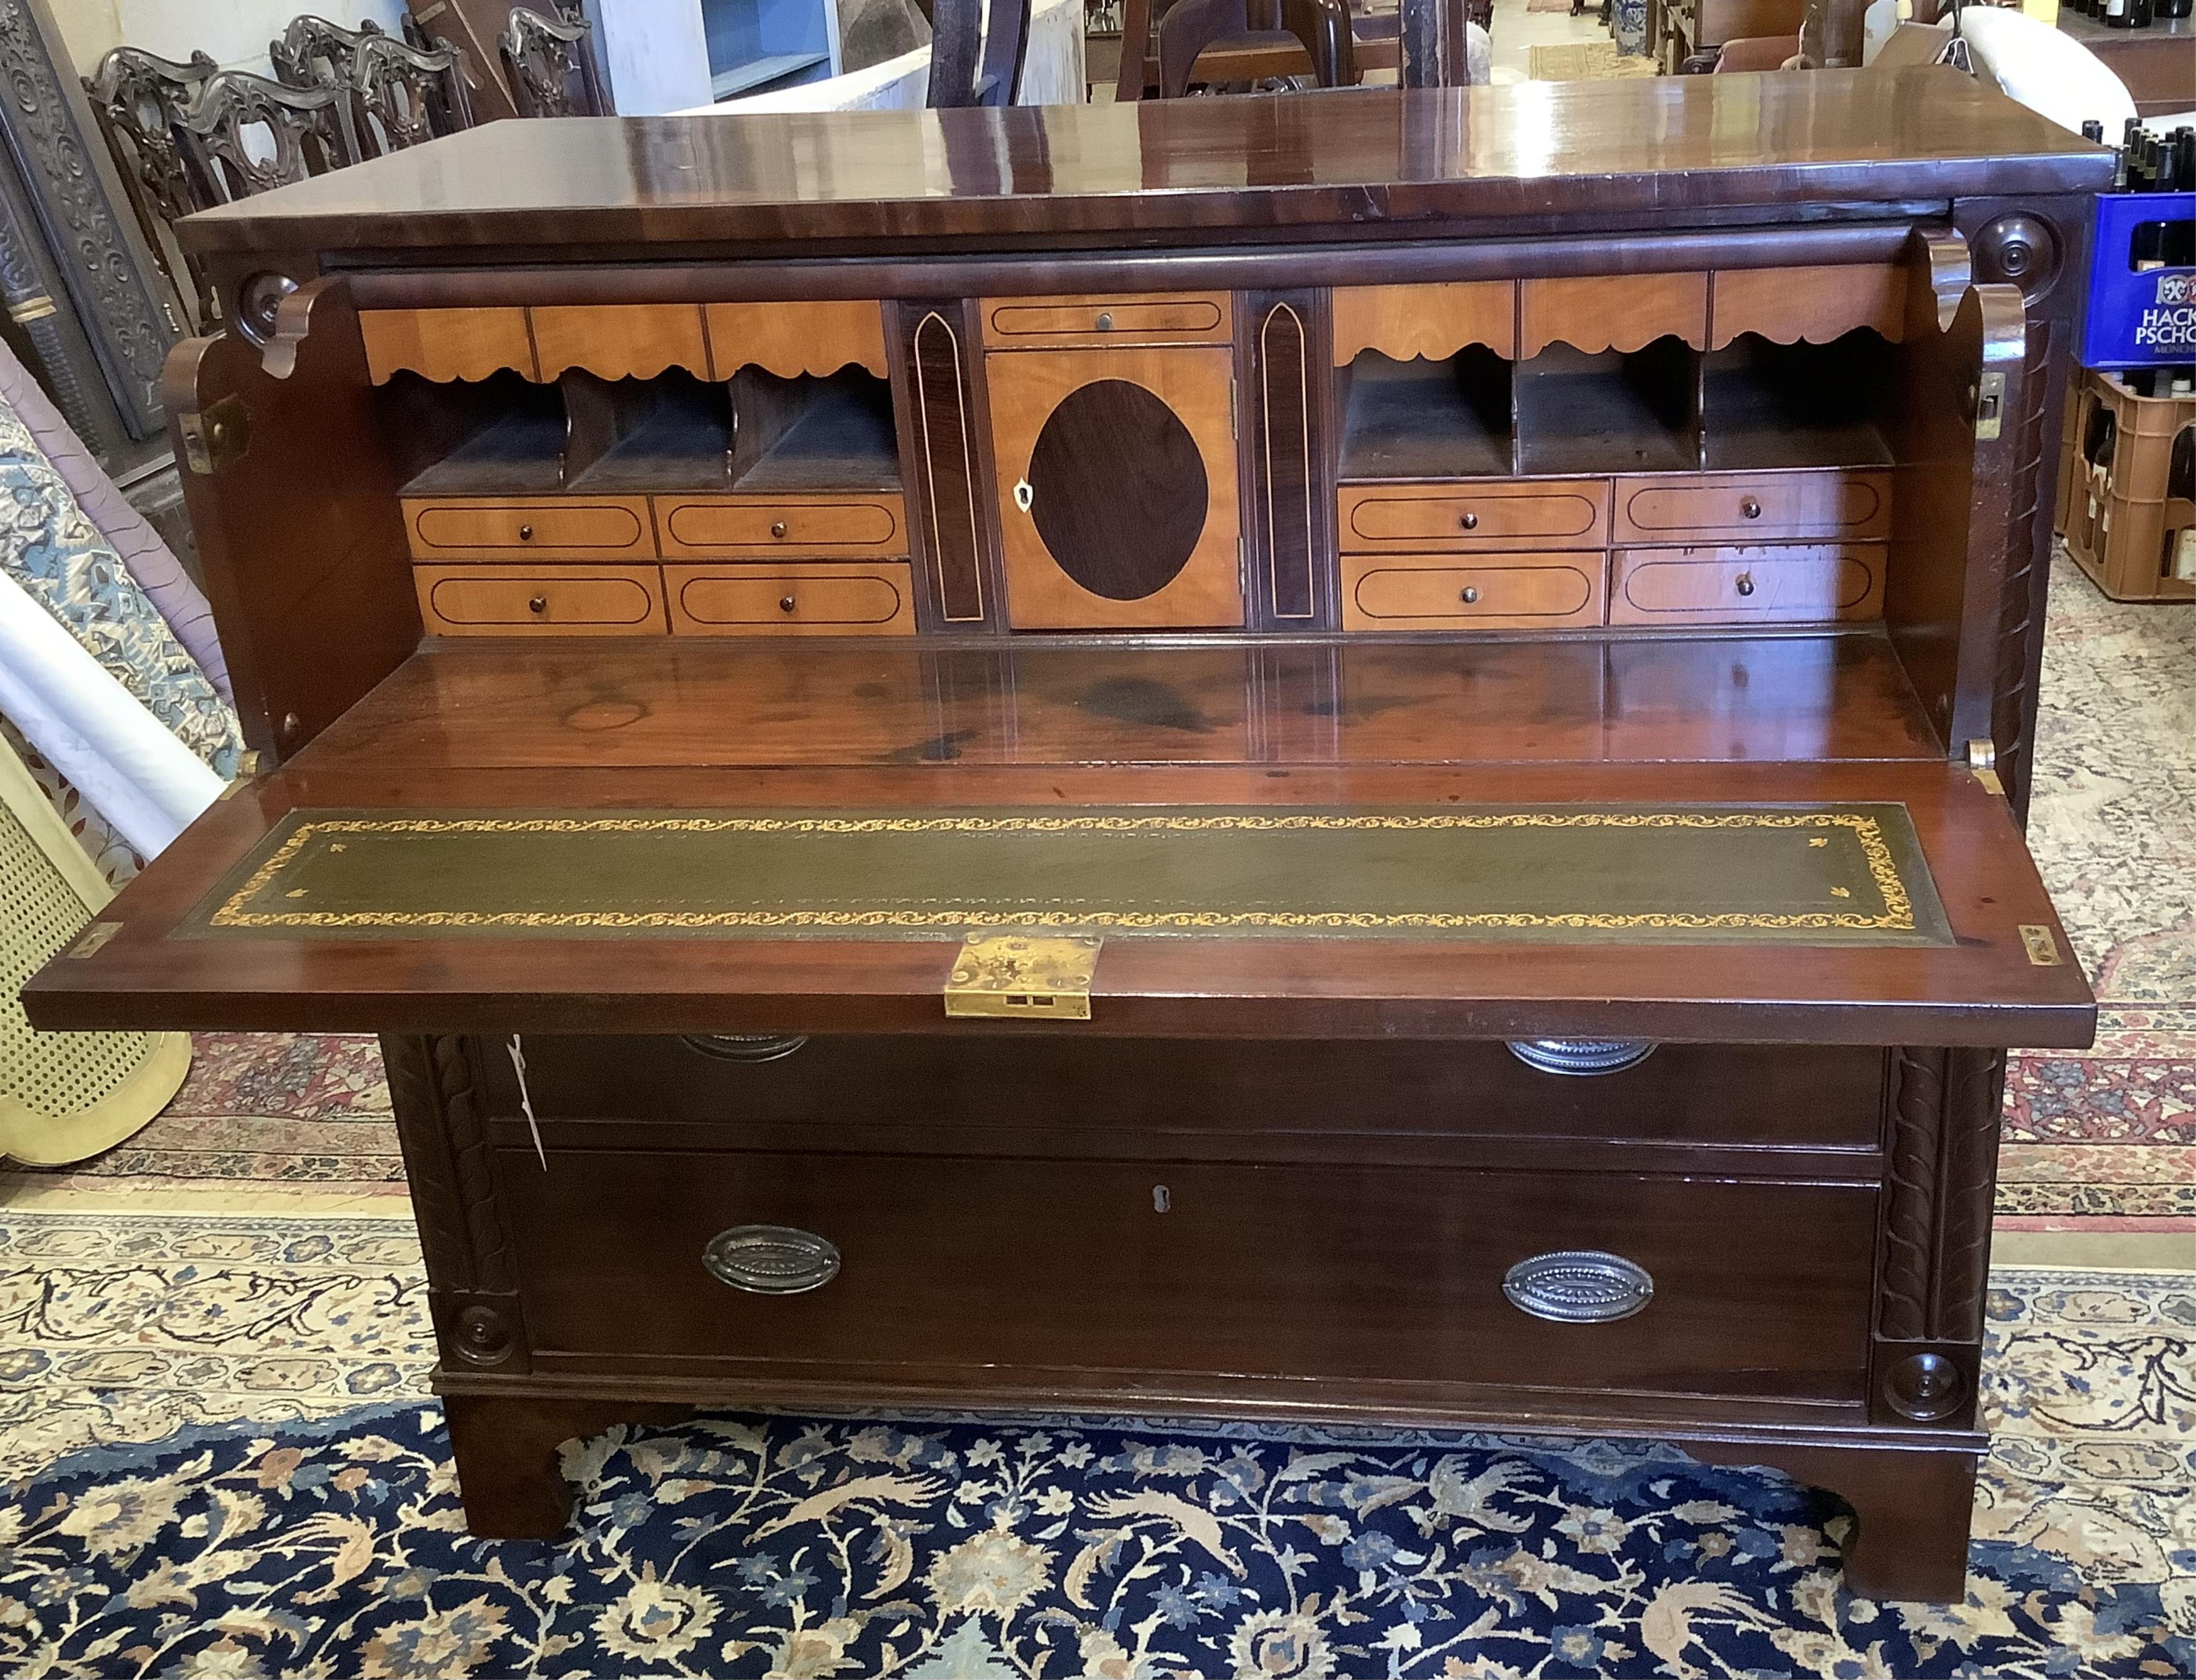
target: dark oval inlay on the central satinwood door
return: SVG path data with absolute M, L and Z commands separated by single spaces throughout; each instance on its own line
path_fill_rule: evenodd
M 1094 380 L 1045 417 L 1030 452 L 1030 518 L 1091 595 L 1140 602 L 1190 562 L 1206 531 L 1206 461 L 1142 384 Z

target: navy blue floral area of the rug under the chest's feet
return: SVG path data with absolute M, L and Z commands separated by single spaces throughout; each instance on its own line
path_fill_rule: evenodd
M 2159 1586 L 1983 1542 L 1838 1588 L 1849 1517 L 1669 1447 L 1245 1425 L 698 1419 L 466 1535 L 441 1416 L 191 1427 L 0 1489 L 0 1671 L 59 1680 L 2185 1676 Z M 2170 1588 L 2172 1583 L 2167 1583 Z

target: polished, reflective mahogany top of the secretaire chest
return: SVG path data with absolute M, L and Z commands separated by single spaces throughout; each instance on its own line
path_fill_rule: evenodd
M 490 123 L 182 224 L 215 250 L 914 250 L 2093 191 L 2110 152 L 1946 68 L 1129 105 Z

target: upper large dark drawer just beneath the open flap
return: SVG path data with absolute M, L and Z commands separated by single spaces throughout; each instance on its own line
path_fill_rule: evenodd
M 1665 1043 L 1592 1076 L 1539 1072 L 1502 1043 L 1346 1039 L 529 1034 L 525 1054 L 545 1120 L 692 1127 L 705 1146 L 881 1153 L 1364 1160 L 1443 1138 L 1572 1155 L 1627 1144 L 1873 1153 L 1884 1080 L 1884 1052 L 1856 1045 Z M 481 1045 L 477 1063 L 490 1109 L 516 1116 L 501 1048 Z

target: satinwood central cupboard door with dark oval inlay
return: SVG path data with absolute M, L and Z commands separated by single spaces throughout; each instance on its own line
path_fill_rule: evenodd
M 1017 630 L 1243 624 L 1234 351 L 993 351 Z

